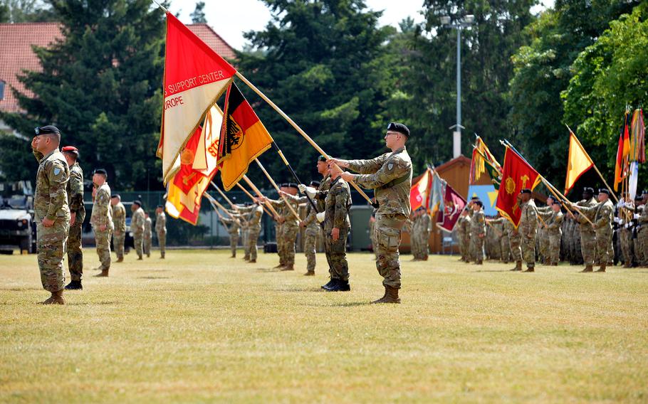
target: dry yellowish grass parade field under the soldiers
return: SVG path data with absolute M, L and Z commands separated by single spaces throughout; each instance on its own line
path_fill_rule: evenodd
M 368 254 L 325 293 L 322 255 L 303 277 L 183 250 L 43 307 L 36 256 L 0 255 L 0 402 L 648 401 L 648 270 L 403 258 L 400 305 L 368 304 Z

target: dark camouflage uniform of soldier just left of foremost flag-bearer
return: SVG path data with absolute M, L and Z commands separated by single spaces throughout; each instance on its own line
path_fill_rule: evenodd
M 349 184 L 341 177 L 331 181 L 330 190 L 325 198 L 325 227 L 324 242 L 328 243 L 330 251 L 331 279 L 349 280 L 349 264 L 347 262 L 347 236 L 351 228 L 349 208 L 351 207 L 351 190 Z M 340 237 L 334 241 L 331 230 L 338 228 Z

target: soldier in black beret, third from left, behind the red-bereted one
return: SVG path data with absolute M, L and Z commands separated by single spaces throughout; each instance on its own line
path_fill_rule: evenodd
M 110 186 L 108 174 L 104 169 L 96 169 L 93 174 L 95 198 L 93 211 L 90 213 L 90 224 L 95 231 L 95 245 L 100 265 L 98 277 L 107 277 L 110 270 L 110 237 L 113 235 L 113 209 L 110 207 Z

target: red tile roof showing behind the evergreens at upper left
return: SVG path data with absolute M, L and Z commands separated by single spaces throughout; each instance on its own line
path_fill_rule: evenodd
M 234 49 L 206 23 L 187 26 L 223 58 L 235 57 Z M 20 110 L 11 87 L 31 95 L 16 77 L 22 70 L 41 70 L 31 46 L 48 46 L 58 38 L 61 38 L 59 23 L 0 23 L 0 80 L 6 83 L 4 99 L 0 100 L 1 111 Z

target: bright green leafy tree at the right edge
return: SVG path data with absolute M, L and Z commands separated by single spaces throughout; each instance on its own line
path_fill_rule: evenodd
M 612 181 L 617 142 L 626 107 L 648 100 L 648 4 L 610 23 L 597 41 L 573 63 L 573 77 L 563 91 L 564 121 L 578 125 L 578 137 Z M 648 171 L 642 167 L 639 178 Z M 611 185 L 611 183 L 610 183 Z

